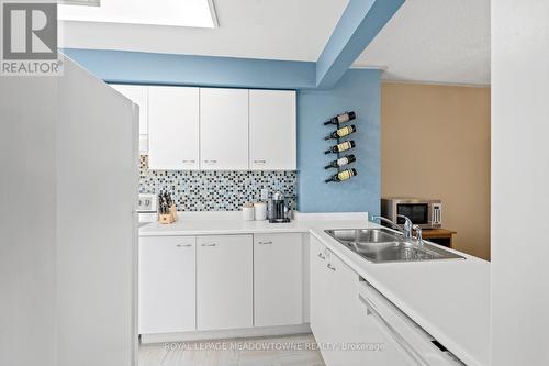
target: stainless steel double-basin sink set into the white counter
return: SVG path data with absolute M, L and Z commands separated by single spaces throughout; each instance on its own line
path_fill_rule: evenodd
M 464 259 L 425 241 L 418 245 L 416 240 L 388 229 L 339 229 L 326 233 L 372 263 Z

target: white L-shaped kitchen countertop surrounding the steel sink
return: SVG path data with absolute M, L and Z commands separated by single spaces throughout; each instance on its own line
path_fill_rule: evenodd
M 309 232 L 467 365 L 489 365 L 490 263 L 457 252 L 466 260 L 373 264 L 324 232 L 380 226 L 366 218 L 301 214 L 290 223 L 271 224 L 242 221 L 234 213 L 200 214 L 170 225 L 152 222 L 139 229 L 139 236 Z

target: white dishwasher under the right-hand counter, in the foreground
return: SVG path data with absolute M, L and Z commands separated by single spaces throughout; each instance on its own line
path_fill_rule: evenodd
M 359 300 L 363 306 L 365 315 L 376 324 L 384 339 L 401 352 L 408 365 L 464 365 L 363 279 L 359 282 Z

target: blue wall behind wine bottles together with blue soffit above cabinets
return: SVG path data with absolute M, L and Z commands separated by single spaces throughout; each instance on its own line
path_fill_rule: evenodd
M 332 89 L 314 89 L 314 63 L 247 60 L 243 58 L 146 54 L 136 52 L 64 49 L 97 77 L 122 84 L 192 85 L 298 90 L 298 209 L 302 212 L 369 211 L 380 206 L 380 70 L 350 69 Z M 202 65 L 202 63 L 204 65 Z M 354 110 L 358 131 L 354 167 L 358 176 L 325 184 L 334 169 L 324 155 L 334 129 L 323 122 Z

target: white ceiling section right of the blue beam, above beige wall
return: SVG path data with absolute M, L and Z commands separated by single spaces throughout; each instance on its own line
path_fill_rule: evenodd
M 407 0 L 355 62 L 394 80 L 490 85 L 490 0 Z

